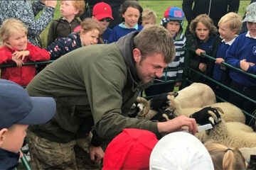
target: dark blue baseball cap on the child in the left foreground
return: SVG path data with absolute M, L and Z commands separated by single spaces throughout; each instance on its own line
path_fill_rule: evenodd
M 18 84 L 0 79 L 0 130 L 14 124 L 38 125 L 53 118 L 55 100 L 51 97 L 30 97 Z

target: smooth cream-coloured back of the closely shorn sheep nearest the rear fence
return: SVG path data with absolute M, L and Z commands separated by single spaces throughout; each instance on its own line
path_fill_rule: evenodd
M 190 86 L 178 91 L 175 98 L 181 108 L 203 107 L 216 103 L 215 94 L 210 86 L 201 83 L 193 83 Z

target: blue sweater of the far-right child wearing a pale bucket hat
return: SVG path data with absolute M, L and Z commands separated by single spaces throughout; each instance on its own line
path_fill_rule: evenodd
M 247 33 L 243 33 L 235 39 L 235 42 L 230 46 L 226 55 L 226 62 L 239 69 L 240 60 L 243 59 L 256 64 L 256 39 L 247 37 Z M 250 66 L 247 72 L 256 74 L 256 65 Z M 256 86 L 256 79 L 236 72 L 233 69 L 230 69 L 230 78 L 245 86 Z

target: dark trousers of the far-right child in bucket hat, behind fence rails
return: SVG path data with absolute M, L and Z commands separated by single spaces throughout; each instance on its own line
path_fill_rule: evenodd
M 230 88 L 234 89 L 235 91 L 240 92 L 240 94 L 243 94 L 249 98 L 252 98 L 252 100 L 256 100 L 256 86 L 245 86 L 243 84 L 238 84 L 235 81 L 232 81 L 230 84 Z M 256 104 L 252 103 L 251 101 L 247 101 L 247 99 L 242 98 L 238 96 L 237 94 L 232 93 L 231 91 L 229 92 L 229 101 L 230 103 L 235 104 L 235 106 L 238 106 L 239 108 L 242 108 L 244 111 L 247 113 L 252 114 L 255 109 L 256 109 Z M 250 121 L 251 118 L 250 116 L 245 115 L 246 117 L 246 124 L 249 125 L 249 123 L 253 122 L 255 123 L 255 120 Z M 252 125 L 250 123 L 250 125 Z M 255 125 L 253 124 L 254 128 Z

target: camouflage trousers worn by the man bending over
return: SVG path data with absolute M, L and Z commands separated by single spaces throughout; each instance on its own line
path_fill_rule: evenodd
M 100 164 L 90 161 L 90 140 L 72 140 L 58 143 L 38 137 L 28 130 L 28 149 L 31 154 L 32 169 L 100 169 Z

